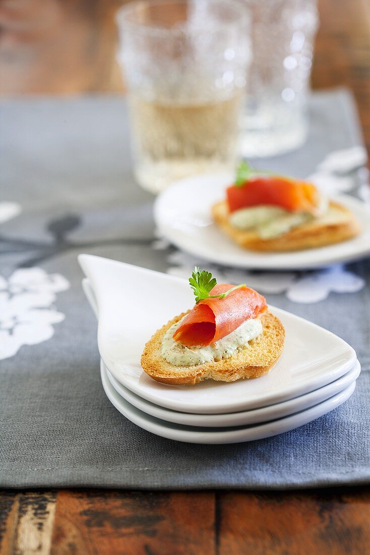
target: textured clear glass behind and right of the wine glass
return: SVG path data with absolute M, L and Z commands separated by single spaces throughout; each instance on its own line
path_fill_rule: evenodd
M 251 17 L 253 60 L 241 153 L 271 156 L 298 148 L 306 139 L 306 103 L 318 26 L 316 2 L 242 2 Z

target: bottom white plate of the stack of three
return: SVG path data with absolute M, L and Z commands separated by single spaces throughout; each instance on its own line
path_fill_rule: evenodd
M 326 401 L 279 420 L 255 426 L 210 429 L 182 426 L 150 416 L 131 405 L 116 392 L 108 379 L 103 362 L 100 366 L 100 375 L 104 391 L 110 402 L 131 422 L 134 422 L 134 424 L 148 432 L 155 433 L 157 436 L 166 437 L 170 440 L 185 441 L 187 443 L 240 443 L 242 441 L 261 440 L 264 437 L 276 436 L 278 433 L 294 430 L 294 428 L 303 426 L 307 422 L 316 420 L 316 418 L 325 415 L 333 410 L 333 408 L 342 405 L 352 395 L 356 387 L 356 381 L 354 381 L 346 389 L 333 395 Z

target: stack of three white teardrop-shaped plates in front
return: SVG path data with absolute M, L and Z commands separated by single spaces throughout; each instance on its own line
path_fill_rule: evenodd
M 80 255 L 83 288 L 98 316 L 100 372 L 113 405 L 156 435 L 191 443 L 252 441 L 315 420 L 352 395 L 356 353 L 330 331 L 271 307 L 286 330 L 285 350 L 266 376 L 195 386 L 160 384 L 140 366 L 145 342 L 192 305 L 186 280 Z

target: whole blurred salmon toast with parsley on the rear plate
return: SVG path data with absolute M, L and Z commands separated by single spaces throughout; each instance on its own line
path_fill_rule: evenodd
M 212 206 L 222 231 L 245 249 L 294 251 L 358 235 L 351 212 L 312 183 L 252 170 L 241 163 L 226 199 Z

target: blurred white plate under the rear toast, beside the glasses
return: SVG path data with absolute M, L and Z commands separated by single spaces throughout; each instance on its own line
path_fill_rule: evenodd
M 362 227 L 358 237 L 337 245 L 293 253 L 254 253 L 242 249 L 212 221 L 211 206 L 225 198 L 231 174 L 197 175 L 177 181 L 155 201 L 154 219 L 161 235 L 187 253 L 217 264 L 258 270 L 302 270 L 348 262 L 370 253 L 370 210 L 360 200 L 338 195 Z

